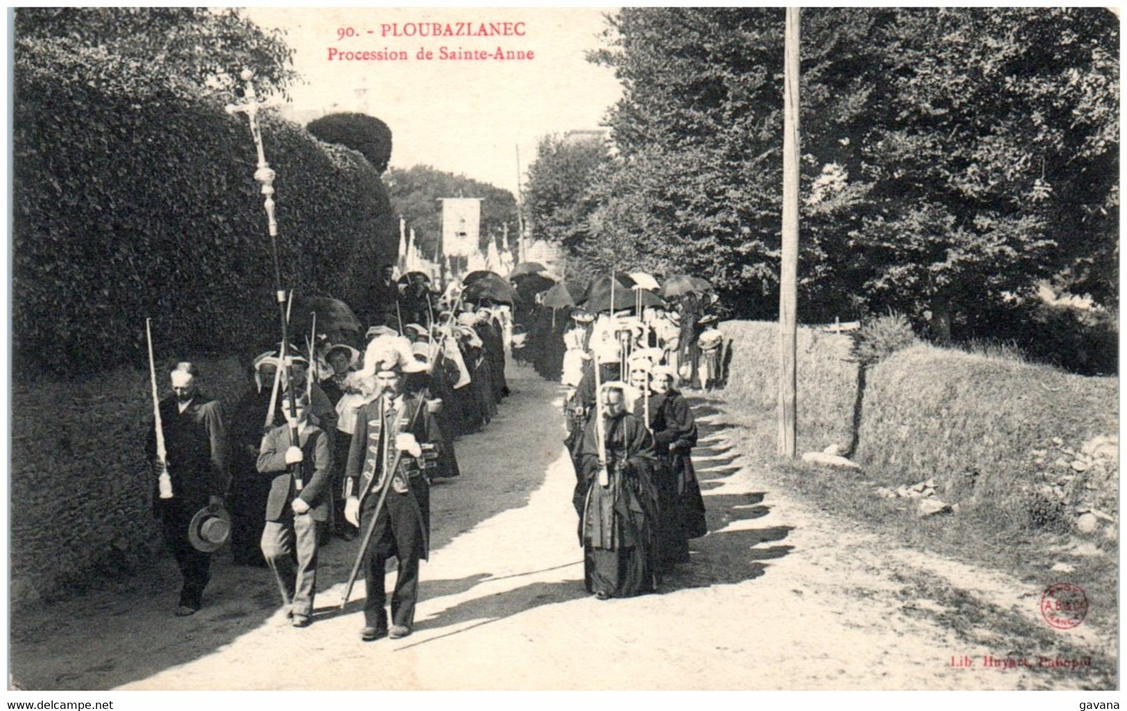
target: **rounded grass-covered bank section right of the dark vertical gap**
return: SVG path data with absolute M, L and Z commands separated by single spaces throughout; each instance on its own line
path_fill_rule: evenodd
M 1019 527 L 1032 487 L 1061 473 L 1080 477 L 1071 456 L 1054 462 L 1062 447 L 1080 452 L 1117 435 L 1118 390 L 1117 377 L 920 344 L 872 368 L 859 462 L 893 485 L 974 477 L 979 503 Z M 1072 494 L 1070 506 L 1119 508 L 1117 481 Z

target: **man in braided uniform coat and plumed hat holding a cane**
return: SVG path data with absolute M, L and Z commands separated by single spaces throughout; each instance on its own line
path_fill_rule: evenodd
M 403 374 L 425 370 L 392 337 L 369 344 L 364 356 L 380 397 L 356 417 L 345 481 L 345 517 L 366 534 L 364 628 L 361 639 L 392 639 L 411 632 L 418 598 L 419 561 L 427 558 L 431 495 L 428 471 L 442 450 L 442 432 L 421 394 L 403 391 Z M 378 509 L 381 491 L 389 488 Z M 384 566 L 396 557 L 391 626 L 384 611 Z

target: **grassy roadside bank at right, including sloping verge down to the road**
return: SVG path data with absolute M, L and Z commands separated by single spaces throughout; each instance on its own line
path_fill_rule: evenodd
M 1092 601 L 1090 620 L 1117 621 L 1118 379 L 926 345 L 859 377 L 848 337 L 801 329 L 799 451 L 837 445 L 858 472 L 775 457 L 775 325 L 722 328 L 733 359 L 719 394 L 770 477 L 893 544 L 1029 581 L 1075 581 Z M 921 517 L 921 497 L 894 494 L 921 482 L 953 513 Z

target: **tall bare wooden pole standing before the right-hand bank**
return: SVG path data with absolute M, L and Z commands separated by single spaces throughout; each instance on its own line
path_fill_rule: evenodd
M 782 128 L 782 265 L 779 275 L 779 455 L 793 457 L 798 337 L 798 43 L 800 10 L 787 8 Z

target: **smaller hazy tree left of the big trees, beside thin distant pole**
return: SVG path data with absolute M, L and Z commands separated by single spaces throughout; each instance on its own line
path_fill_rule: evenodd
M 583 245 L 595 207 L 592 179 L 609 160 L 610 149 L 602 139 L 543 136 L 524 188 L 532 235 L 569 248 Z

